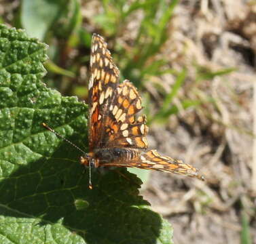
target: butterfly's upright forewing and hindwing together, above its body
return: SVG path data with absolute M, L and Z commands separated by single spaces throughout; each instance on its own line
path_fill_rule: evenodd
M 147 148 L 145 116 L 136 119 L 141 97 L 129 81 L 119 83 L 115 66 L 103 37 L 94 34 L 90 58 L 89 121 L 90 150 L 94 148 Z

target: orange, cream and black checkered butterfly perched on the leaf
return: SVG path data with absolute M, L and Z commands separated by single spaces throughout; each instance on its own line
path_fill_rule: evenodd
M 88 85 L 89 153 L 81 157 L 81 163 L 155 169 L 203 180 L 191 165 L 147 150 L 146 117 L 136 117 L 142 108 L 141 97 L 130 81 L 120 83 L 119 76 L 107 43 L 94 34 Z

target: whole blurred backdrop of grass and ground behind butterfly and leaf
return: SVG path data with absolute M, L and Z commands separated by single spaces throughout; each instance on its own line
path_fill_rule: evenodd
M 175 243 L 256 243 L 256 1 L 2 0 L 0 22 L 48 43 L 44 82 L 81 100 L 92 33 L 105 37 L 143 97 L 149 148 L 206 178 L 136 171 Z

